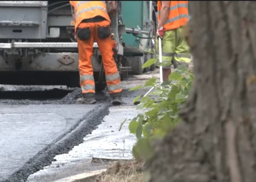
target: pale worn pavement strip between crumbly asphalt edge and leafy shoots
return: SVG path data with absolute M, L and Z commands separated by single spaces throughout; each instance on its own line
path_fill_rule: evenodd
M 55 182 L 72 175 L 106 168 L 112 160 L 132 159 L 131 151 L 137 139 L 133 134 L 130 134 L 128 126 L 133 117 L 143 112 L 136 109 L 132 100 L 138 95 L 145 94 L 150 88 L 133 92 L 128 91 L 128 89 L 143 84 L 153 76 L 157 77 L 158 75 L 157 73 L 136 75 L 123 81 L 123 103 L 119 106 L 111 105 L 109 114 L 104 117 L 102 123 L 92 133 L 83 138 L 83 143 L 74 146 L 69 153 L 56 155 L 55 161 L 51 165 L 30 175 L 27 182 Z M 119 131 L 120 124 L 125 119 L 126 122 Z

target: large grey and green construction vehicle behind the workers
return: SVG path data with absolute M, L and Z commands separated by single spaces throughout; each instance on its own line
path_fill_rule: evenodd
M 154 4 L 154 5 L 153 5 Z M 124 77 L 142 74 L 154 58 L 157 19 L 152 1 L 118 1 L 111 17 L 114 58 Z M 0 84 L 79 87 L 78 49 L 68 1 L 0 2 Z M 96 86 L 106 87 L 95 42 L 92 65 Z

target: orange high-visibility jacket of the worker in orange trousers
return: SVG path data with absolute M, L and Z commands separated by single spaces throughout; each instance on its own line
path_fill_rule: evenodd
M 105 1 L 69 1 L 74 7 L 76 19 L 75 32 L 78 25 L 83 19 L 90 19 L 96 16 L 102 16 L 107 21 L 111 22 L 107 14 L 107 5 Z

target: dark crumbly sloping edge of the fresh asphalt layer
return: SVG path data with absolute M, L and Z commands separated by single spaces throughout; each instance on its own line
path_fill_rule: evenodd
M 69 131 L 39 151 L 19 170 L 2 182 L 25 182 L 29 175 L 50 165 L 56 155 L 68 153 L 74 146 L 83 143 L 83 138 L 101 124 L 103 118 L 109 114 L 109 106 L 109 103 L 102 104 L 86 113 L 86 116 L 76 122 Z

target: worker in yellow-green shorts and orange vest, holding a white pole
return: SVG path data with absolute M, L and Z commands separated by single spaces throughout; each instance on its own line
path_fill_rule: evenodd
M 189 21 L 188 1 L 158 1 L 158 27 L 156 49 L 159 51 L 158 37 L 162 39 L 162 61 L 173 63 L 173 67 L 189 66 L 190 54 L 187 41 L 182 36 L 183 26 Z M 159 54 L 157 55 L 159 59 Z M 171 65 L 163 66 L 163 81 L 168 81 Z

